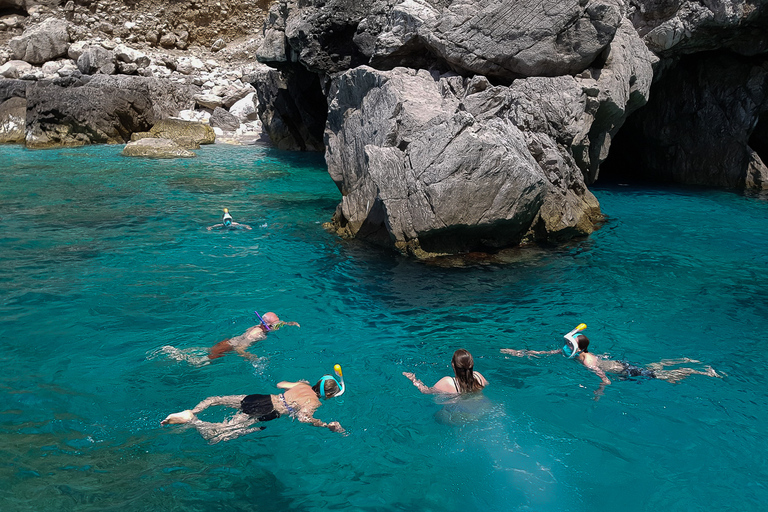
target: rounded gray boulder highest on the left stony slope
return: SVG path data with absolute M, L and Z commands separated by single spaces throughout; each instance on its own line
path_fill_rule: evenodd
M 66 20 L 56 18 L 33 25 L 8 42 L 13 58 L 39 65 L 66 55 L 69 47 L 68 27 Z

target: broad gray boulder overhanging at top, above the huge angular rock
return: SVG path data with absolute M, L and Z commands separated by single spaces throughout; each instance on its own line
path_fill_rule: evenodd
M 608 46 L 622 0 L 451 2 L 419 27 L 427 47 L 454 69 L 491 77 L 578 73 Z

